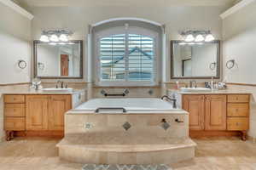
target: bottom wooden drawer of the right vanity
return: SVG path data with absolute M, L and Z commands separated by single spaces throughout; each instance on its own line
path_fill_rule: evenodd
M 230 131 L 242 131 L 248 129 L 247 117 L 228 117 L 227 122 L 228 130 Z

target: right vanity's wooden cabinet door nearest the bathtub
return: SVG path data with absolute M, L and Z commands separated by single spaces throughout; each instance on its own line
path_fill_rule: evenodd
M 204 95 L 183 95 L 183 110 L 189 112 L 189 130 L 204 130 Z

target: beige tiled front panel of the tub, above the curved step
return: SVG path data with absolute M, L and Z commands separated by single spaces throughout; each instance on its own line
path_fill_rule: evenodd
M 175 119 L 183 122 L 175 122 Z M 167 130 L 161 127 L 162 119 L 170 124 Z M 122 127 L 125 122 L 131 124 L 131 128 L 127 131 Z M 86 128 L 85 124 L 89 123 L 90 128 Z M 98 134 L 108 136 L 131 135 L 152 135 L 157 137 L 168 138 L 187 138 L 189 137 L 189 115 L 188 114 L 140 114 L 140 115 L 92 115 L 92 114 L 67 114 L 65 116 L 65 134 L 84 133 Z

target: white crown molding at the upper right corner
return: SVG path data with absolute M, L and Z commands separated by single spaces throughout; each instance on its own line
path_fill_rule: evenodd
M 219 16 L 222 18 L 222 20 L 224 20 L 225 18 L 230 16 L 230 14 L 236 13 L 241 8 L 244 8 L 248 4 L 253 3 L 253 2 L 255 2 L 255 0 L 241 0 L 240 3 L 236 3 L 236 5 L 234 5 L 233 7 L 229 8 L 228 10 L 226 10 L 223 14 L 220 14 Z

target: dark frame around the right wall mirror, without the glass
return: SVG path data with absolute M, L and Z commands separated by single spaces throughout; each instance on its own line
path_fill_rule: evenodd
M 173 45 L 174 43 L 178 43 L 178 42 L 183 42 L 181 40 L 172 40 L 171 41 L 171 48 L 170 48 L 170 54 L 171 54 L 171 79 L 211 79 L 212 77 L 175 77 L 174 76 L 174 65 L 173 65 L 173 58 L 174 58 L 174 54 L 173 54 Z M 219 40 L 214 40 L 212 42 L 205 42 L 205 43 L 217 43 L 217 75 L 215 77 L 213 77 L 214 79 L 219 79 L 220 78 L 220 41 Z

